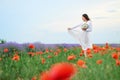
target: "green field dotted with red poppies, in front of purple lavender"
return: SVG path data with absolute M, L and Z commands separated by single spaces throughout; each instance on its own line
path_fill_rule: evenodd
M 0 80 L 120 80 L 120 47 L 0 47 Z

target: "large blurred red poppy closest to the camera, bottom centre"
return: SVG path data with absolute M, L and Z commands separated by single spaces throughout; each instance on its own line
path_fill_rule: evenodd
M 51 67 L 49 75 L 52 80 L 68 80 L 75 73 L 75 67 L 69 63 L 58 63 Z

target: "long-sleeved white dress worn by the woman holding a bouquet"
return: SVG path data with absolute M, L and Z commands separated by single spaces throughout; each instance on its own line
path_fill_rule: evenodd
M 91 21 L 87 21 L 88 28 L 86 31 L 83 31 L 81 26 L 85 22 L 73 27 L 71 30 L 68 30 L 69 34 L 72 35 L 75 39 L 77 39 L 83 50 L 87 50 L 88 48 L 92 48 L 92 43 L 90 39 L 90 33 L 92 31 L 92 23 Z

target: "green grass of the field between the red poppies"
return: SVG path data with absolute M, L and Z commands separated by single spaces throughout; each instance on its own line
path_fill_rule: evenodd
M 6 56 L 8 53 L 1 53 L 0 80 L 31 80 L 34 76 L 39 80 L 41 72 L 49 70 L 51 65 L 59 62 L 70 62 L 76 65 L 77 73 L 72 80 L 120 80 L 120 66 L 116 66 L 115 60 L 111 57 L 115 50 L 108 49 L 104 55 L 92 52 L 93 57 L 86 59 L 84 56 L 79 56 L 81 52 L 79 47 L 68 49 L 67 52 L 64 52 L 63 48 L 60 50 L 57 56 L 54 55 L 55 51 L 32 57 L 27 52 L 19 52 L 19 61 L 12 60 L 14 54 Z M 76 58 L 68 61 L 67 57 L 71 54 L 76 55 Z M 52 58 L 48 58 L 48 55 Z M 44 64 L 41 62 L 41 57 L 45 59 Z M 87 68 L 77 66 L 79 59 L 86 62 Z M 103 63 L 98 65 L 96 61 L 99 59 Z

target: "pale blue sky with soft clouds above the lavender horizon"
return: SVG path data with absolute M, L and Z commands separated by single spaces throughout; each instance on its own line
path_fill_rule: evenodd
M 0 39 L 79 43 L 67 28 L 89 15 L 93 43 L 120 43 L 120 0 L 0 0 Z

